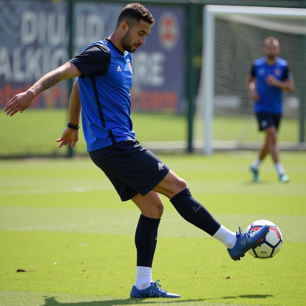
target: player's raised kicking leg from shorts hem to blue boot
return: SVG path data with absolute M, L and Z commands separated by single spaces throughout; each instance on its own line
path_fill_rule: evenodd
M 236 233 L 226 229 L 202 204 L 193 198 L 186 182 L 171 170 L 153 190 L 168 197 L 174 208 L 186 221 L 226 245 L 230 257 L 235 261 L 240 260 L 244 253 L 257 245 L 269 230 L 269 227 L 266 226 L 260 229 L 260 233 L 242 234 L 240 228 Z

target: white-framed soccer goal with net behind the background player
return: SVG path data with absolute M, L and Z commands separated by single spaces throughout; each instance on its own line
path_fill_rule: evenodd
M 268 36 L 279 40 L 279 56 L 289 63 L 296 83 L 294 93 L 284 92 L 279 144 L 299 147 L 306 103 L 306 9 L 207 5 L 193 135 L 194 146 L 204 153 L 258 148 L 262 142 L 245 80 L 253 61 L 263 56 Z

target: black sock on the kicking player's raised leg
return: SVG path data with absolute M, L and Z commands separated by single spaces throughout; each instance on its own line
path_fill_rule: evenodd
M 221 226 L 207 209 L 192 197 L 188 188 L 177 193 L 170 199 L 170 202 L 186 221 L 211 236 L 213 236 Z

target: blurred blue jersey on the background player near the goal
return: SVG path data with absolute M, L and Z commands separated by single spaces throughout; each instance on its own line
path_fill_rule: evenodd
M 265 57 L 254 61 L 251 75 L 257 79 L 257 92 L 260 95 L 259 101 L 254 103 L 255 113 L 265 112 L 270 114 L 281 114 L 283 91 L 276 86 L 270 86 L 266 83 L 266 77 L 271 74 L 278 80 L 292 78 L 289 72 L 288 63 L 279 57 L 276 57 L 274 65 L 268 65 Z

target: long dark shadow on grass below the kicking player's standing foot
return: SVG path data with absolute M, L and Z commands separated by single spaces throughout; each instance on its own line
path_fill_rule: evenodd
M 159 298 L 150 299 L 147 301 L 145 298 L 134 298 L 134 299 L 118 299 L 118 300 L 105 300 L 105 301 L 91 301 L 91 302 L 77 302 L 77 303 L 60 303 L 55 300 L 55 297 L 47 297 L 45 304 L 42 306 L 112 306 L 112 305 L 135 305 L 135 304 L 151 304 L 152 302 L 161 302 Z M 186 302 L 201 302 L 206 300 L 214 300 L 213 298 L 207 299 L 192 299 L 192 300 L 181 300 L 181 299 L 170 299 L 171 304 L 174 303 L 186 303 Z M 165 300 L 162 301 L 165 303 Z

